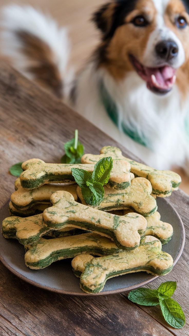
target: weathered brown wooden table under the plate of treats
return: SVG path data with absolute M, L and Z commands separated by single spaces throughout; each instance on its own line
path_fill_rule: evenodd
M 104 145 L 122 146 L 70 110 L 60 100 L 40 90 L 8 65 L 0 64 L 0 206 L 14 190 L 9 167 L 40 158 L 60 162 L 63 144 L 78 129 L 86 153 L 98 154 Z M 168 336 L 189 335 L 189 197 L 181 190 L 169 202 L 182 217 L 186 244 L 181 259 L 163 281 L 177 281 L 174 298 L 181 304 L 186 325 L 171 328 L 156 307 L 137 306 L 127 293 L 74 297 L 48 292 L 15 277 L 0 263 L 0 336 Z

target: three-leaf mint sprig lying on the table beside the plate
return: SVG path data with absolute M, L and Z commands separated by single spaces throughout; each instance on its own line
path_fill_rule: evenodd
M 185 316 L 180 304 L 171 298 L 177 288 L 176 281 L 162 283 L 157 289 L 138 288 L 131 291 L 128 299 L 144 306 L 160 305 L 165 321 L 173 328 L 185 325 Z

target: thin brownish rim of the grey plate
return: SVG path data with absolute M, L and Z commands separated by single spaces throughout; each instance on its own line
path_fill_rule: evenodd
M 179 249 L 179 253 L 178 253 L 178 256 L 177 258 L 174 260 L 174 266 L 176 265 L 176 263 L 178 262 L 178 260 L 180 259 L 181 255 L 182 255 L 182 252 L 183 252 L 183 249 L 184 249 L 184 245 L 185 245 L 185 228 L 184 228 L 184 224 L 183 224 L 183 221 L 179 215 L 179 213 L 177 212 L 177 210 L 174 208 L 174 206 L 172 206 L 172 204 L 170 204 L 165 198 L 163 198 L 164 202 L 166 202 L 167 204 L 169 204 L 169 206 L 172 208 L 172 211 L 177 215 L 179 221 L 180 221 L 180 224 L 181 224 L 181 228 L 182 228 L 182 238 L 181 238 L 181 244 L 180 244 L 180 249 Z M 1 208 L 3 208 L 6 203 L 8 203 L 10 201 L 7 200 Z M 1 209 L 0 209 L 1 210 Z M 85 293 L 85 292 L 78 292 L 78 293 L 73 293 L 73 292 L 69 292 L 69 291 L 65 291 L 65 290 L 61 290 L 61 289 L 56 289 L 56 288 L 52 288 L 52 287 L 48 287 L 48 286 L 43 286 L 41 284 L 38 284 L 37 282 L 33 281 L 33 280 L 30 280 L 28 279 L 27 277 L 23 276 L 22 274 L 20 274 L 18 271 L 16 271 L 15 269 L 13 269 L 4 259 L 3 259 L 3 256 L 1 255 L 1 251 L 0 251 L 0 261 L 3 263 L 3 265 L 9 269 L 9 271 L 11 271 L 14 275 L 16 275 L 17 277 L 19 277 L 20 279 L 22 279 L 23 281 L 26 281 L 27 283 L 33 285 L 33 286 L 36 286 L 38 288 L 41 288 L 41 289 L 45 289 L 45 290 L 48 290 L 50 292 L 55 292 L 55 293 L 59 293 L 59 294 L 65 294 L 65 295 L 74 295 L 74 296 L 97 296 L 97 295 L 110 295 L 110 294 L 117 294 L 117 293 L 122 293 L 122 292 L 130 292 L 131 290 L 134 290 L 134 289 L 137 289 L 139 287 L 142 287 L 142 286 L 145 286 L 145 285 L 148 285 L 150 282 L 154 281 L 155 279 L 159 278 L 159 276 L 155 276 L 149 280 L 146 280 L 146 281 L 143 281 L 143 282 L 140 282 L 139 284 L 137 285 L 133 285 L 133 286 L 130 286 L 130 287 L 125 287 L 125 288 L 120 288 L 120 289 L 115 289 L 115 290 L 112 290 L 112 291 L 104 291 L 104 292 L 100 292 L 100 293 Z

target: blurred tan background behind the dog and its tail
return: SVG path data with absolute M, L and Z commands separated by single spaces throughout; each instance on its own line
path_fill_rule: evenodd
M 107 0 L 0 0 L 0 9 L 13 3 L 32 5 L 43 13 L 50 14 L 59 26 L 66 26 L 71 41 L 70 65 L 79 71 L 99 41 L 99 32 L 90 22 L 90 18 L 93 12 L 105 2 Z M 181 175 L 181 189 L 189 194 L 189 177 L 183 169 L 173 167 L 172 170 Z

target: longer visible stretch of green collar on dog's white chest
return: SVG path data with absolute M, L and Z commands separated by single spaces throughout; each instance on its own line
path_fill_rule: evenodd
M 119 113 L 116 103 L 106 90 L 103 80 L 99 81 L 98 86 L 103 107 L 108 116 L 112 119 L 113 123 L 119 128 Z M 151 149 L 150 141 L 148 138 L 146 138 L 145 134 L 142 134 L 142 136 L 140 136 L 137 130 L 130 129 L 124 122 L 121 123 L 121 131 L 124 132 L 135 142 Z

